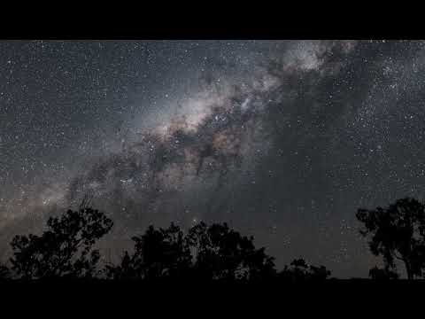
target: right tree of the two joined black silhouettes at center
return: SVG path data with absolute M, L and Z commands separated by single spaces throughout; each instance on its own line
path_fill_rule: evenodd
M 207 226 L 200 222 L 189 230 L 197 276 L 211 280 L 260 280 L 275 274 L 274 258 L 265 248 L 256 249 L 253 237 L 230 230 L 227 223 Z

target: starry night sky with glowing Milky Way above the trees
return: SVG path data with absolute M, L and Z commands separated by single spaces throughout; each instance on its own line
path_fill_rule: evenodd
M 203 220 L 277 268 L 367 276 L 357 209 L 423 199 L 424 44 L 1 41 L 3 258 L 90 194 L 112 259 L 151 223 Z

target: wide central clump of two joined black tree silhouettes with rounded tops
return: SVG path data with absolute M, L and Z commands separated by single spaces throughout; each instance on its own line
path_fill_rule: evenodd
M 131 256 L 126 252 L 118 266 L 106 266 L 107 277 L 253 281 L 275 274 L 274 258 L 265 248 L 256 249 L 253 237 L 241 236 L 226 223 L 201 222 L 186 236 L 174 223 L 166 230 L 151 226 L 133 240 L 135 252 Z

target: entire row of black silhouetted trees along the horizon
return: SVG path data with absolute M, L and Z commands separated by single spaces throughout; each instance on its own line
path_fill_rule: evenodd
M 414 198 L 399 199 L 388 208 L 359 209 L 360 233 L 369 238 L 370 251 L 383 257 L 383 268 L 372 268 L 372 279 L 398 279 L 396 261 L 405 265 L 409 279 L 424 276 L 425 206 Z M 132 237 L 134 250 L 124 252 L 117 264 L 99 265 L 94 249 L 113 222 L 83 201 L 77 211 L 50 217 L 42 235 L 12 239 L 10 266 L 0 266 L 4 279 L 108 279 L 158 282 L 317 282 L 329 278 L 324 266 L 294 260 L 278 271 L 265 247 L 257 248 L 253 237 L 241 235 L 227 223 L 199 222 L 186 233 L 171 223 L 150 226 Z

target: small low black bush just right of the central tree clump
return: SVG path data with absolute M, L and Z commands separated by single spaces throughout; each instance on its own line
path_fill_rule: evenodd
M 306 281 L 322 281 L 328 279 L 330 271 L 324 267 L 308 265 L 304 259 L 296 259 L 290 262 L 290 266 L 285 266 L 279 273 L 279 277 L 284 281 L 293 283 Z

